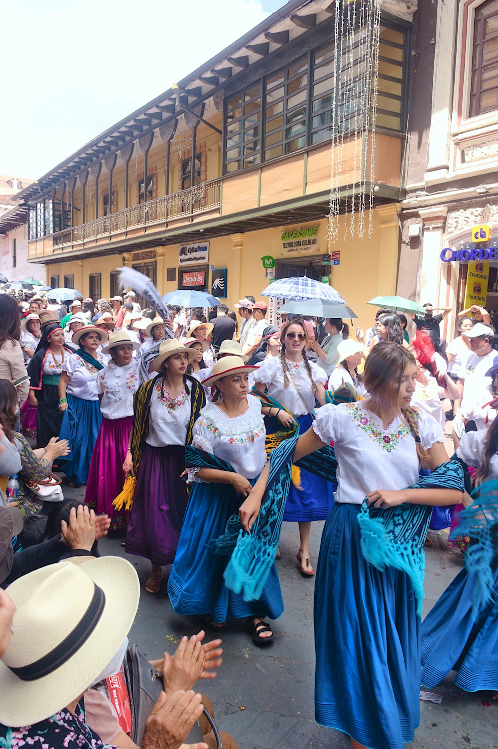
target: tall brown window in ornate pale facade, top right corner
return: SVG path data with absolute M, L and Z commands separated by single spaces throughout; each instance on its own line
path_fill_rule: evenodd
M 470 117 L 498 109 L 498 0 L 476 7 Z

